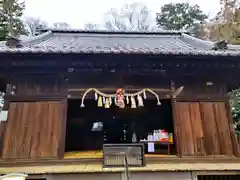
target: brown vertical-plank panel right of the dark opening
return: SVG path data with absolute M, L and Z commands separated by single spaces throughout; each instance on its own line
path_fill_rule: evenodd
M 239 156 L 228 103 L 174 102 L 174 126 L 180 156 Z

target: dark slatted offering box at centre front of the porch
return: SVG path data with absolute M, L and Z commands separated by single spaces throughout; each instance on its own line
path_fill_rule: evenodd
M 143 144 L 104 144 L 103 167 L 145 166 Z

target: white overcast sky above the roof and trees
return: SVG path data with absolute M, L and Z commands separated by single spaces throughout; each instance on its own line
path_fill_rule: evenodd
M 161 5 L 169 2 L 198 4 L 210 17 L 220 9 L 220 0 L 25 0 L 24 17 L 40 18 L 49 24 L 67 22 L 72 28 L 82 28 L 86 23 L 103 22 L 104 13 L 110 8 L 119 8 L 126 3 L 146 4 L 155 15 Z

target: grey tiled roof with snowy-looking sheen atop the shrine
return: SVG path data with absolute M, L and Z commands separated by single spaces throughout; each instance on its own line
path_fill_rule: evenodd
M 225 51 L 211 50 L 213 42 L 181 32 L 90 32 L 47 31 L 21 42 L 23 47 L 10 48 L 0 43 L 0 53 L 140 53 L 190 55 L 240 55 L 233 46 Z

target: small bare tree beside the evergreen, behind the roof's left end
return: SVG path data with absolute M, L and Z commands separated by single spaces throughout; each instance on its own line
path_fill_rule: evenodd
M 41 34 L 41 30 L 48 28 L 48 25 L 46 22 L 40 19 L 31 18 L 31 17 L 26 18 L 26 20 L 24 21 L 24 24 L 30 36 L 39 35 Z

